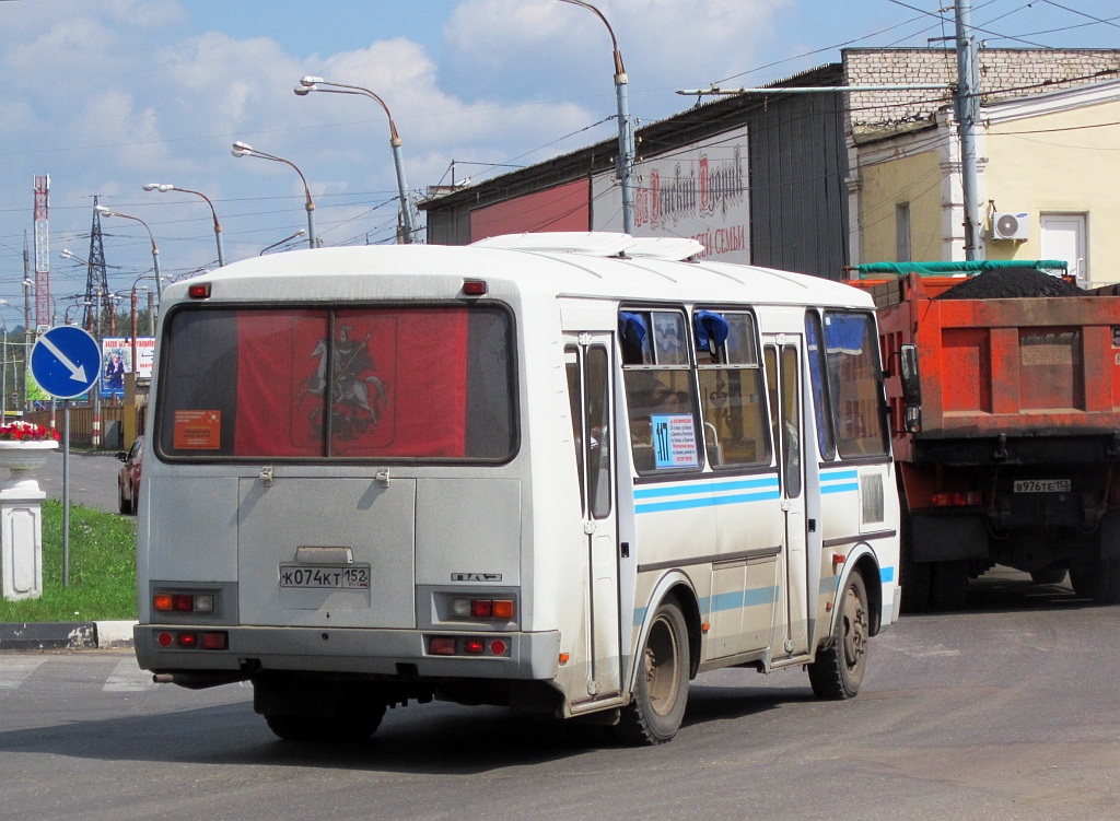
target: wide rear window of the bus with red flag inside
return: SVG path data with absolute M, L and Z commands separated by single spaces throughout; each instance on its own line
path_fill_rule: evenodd
M 164 344 L 169 457 L 504 461 L 516 446 L 497 307 L 184 309 Z

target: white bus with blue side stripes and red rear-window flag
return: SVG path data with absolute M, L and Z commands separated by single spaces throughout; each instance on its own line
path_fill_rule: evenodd
M 286 739 L 502 705 L 674 736 L 689 682 L 855 696 L 898 616 L 872 302 L 624 234 L 277 254 L 168 286 L 140 665 Z

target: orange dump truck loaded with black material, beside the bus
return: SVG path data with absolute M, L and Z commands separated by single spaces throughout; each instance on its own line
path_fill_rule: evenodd
M 904 610 L 962 606 L 995 565 L 1038 584 L 1068 571 L 1079 595 L 1120 601 L 1117 289 L 1080 291 L 1043 263 L 945 264 L 861 265 L 851 280 L 875 297 L 889 374 Z M 1032 278 L 1080 296 L 998 287 Z

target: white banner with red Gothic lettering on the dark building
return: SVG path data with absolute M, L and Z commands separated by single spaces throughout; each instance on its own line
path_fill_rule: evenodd
M 688 236 L 702 259 L 750 262 L 747 127 L 637 164 L 635 236 Z M 595 231 L 622 231 L 622 190 L 613 174 L 592 180 Z

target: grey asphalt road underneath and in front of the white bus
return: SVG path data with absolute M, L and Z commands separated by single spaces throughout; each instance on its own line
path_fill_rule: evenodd
M 442 703 L 301 746 L 248 687 L 156 685 L 121 651 L 0 655 L 0 817 L 1120 818 L 1120 608 L 1009 571 L 972 593 L 874 640 L 852 701 L 816 701 L 801 671 L 719 671 L 647 749 Z

